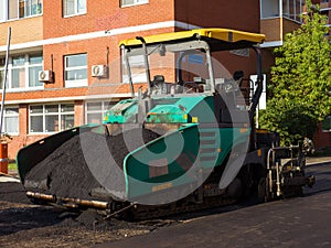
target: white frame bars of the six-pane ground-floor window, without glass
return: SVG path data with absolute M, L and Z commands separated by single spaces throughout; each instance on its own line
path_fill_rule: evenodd
M 63 111 L 62 109 L 66 105 L 72 105 L 73 110 L 72 111 Z M 49 106 L 56 106 L 56 108 L 57 108 L 56 111 L 46 111 Z M 31 107 L 42 107 L 42 111 L 41 112 L 32 112 Z M 65 120 L 64 116 L 73 116 L 72 127 L 63 128 L 62 123 L 63 123 L 63 120 Z M 42 117 L 42 131 L 31 130 L 31 127 L 32 127 L 31 117 Z M 47 130 L 47 127 L 46 127 L 46 118 L 47 117 L 57 117 L 55 119 L 55 120 L 57 120 L 57 130 L 55 130 L 55 131 Z M 74 127 L 74 125 L 75 125 L 75 104 L 74 103 L 61 103 L 61 104 L 47 103 L 47 104 L 43 104 L 43 105 L 30 105 L 29 106 L 29 134 L 53 134 L 56 132 L 61 132 L 61 131 L 71 129 Z

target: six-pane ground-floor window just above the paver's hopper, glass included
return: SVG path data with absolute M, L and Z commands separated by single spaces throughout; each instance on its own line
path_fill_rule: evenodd
M 57 132 L 74 127 L 73 104 L 51 104 L 30 106 L 29 132 Z

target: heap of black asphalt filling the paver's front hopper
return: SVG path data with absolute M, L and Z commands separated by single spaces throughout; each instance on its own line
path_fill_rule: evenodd
M 100 173 L 106 173 L 110 166 L 122 168 L 122 161 L 130 151 L 158 137 L 158 133 L 147 129 L 130 129 L 115 136 L 81 133 L 35 164 L 26 174 L 24 186 L 33 192 L 58 197 L 93 200 L 92 191 L 103 188 L 103 185 L 93 175 L 90 161 L 93 166 L 100 168 Z M 94 157 L 88 159 L 88 163 L 86 153 Z

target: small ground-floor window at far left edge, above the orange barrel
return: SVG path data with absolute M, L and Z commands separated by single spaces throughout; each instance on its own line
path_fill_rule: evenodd
M 9 134 L 19 133 L 19 107 L 4 107 L 2 132 Z

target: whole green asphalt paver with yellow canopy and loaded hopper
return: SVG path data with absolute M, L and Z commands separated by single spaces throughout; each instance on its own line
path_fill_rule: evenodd
M 66 130 L 20 150 L 17 161 L 28 196 L 152 217 L 232 203 L 252 193 L 266 201 L 301 194 L 313 179 L 305 176 L 299 147 L 279 148 L 277 133 L 254 125 L 263 93 L 258 44 L 264 40 L 263 34 L 199 29 L 121 41 L 124 82 L 132 97 L 108 110 L 100 126 Z M 236 67 L 233 77 L 227 62 L 228 68 Z M 244 69 L 252 74 L 254 67 L 255 82 L 244 76 Z M 147 86 L 135 91 L 137 82 Z M 78 136 L 85 166 L 82 158 L 63 165 L 54 153 Z M 50 155 L 55 162 L 43 165 L 47 173 L 31 175 Z M 88 170 L 89 181 L 98 183 L 77 184 L 85 181 L 73 176 L 61 181 L 61 191 L 52 191 L 57 160 L 63 170 Z M 65 194 L 73 187 L 87 196 Z

